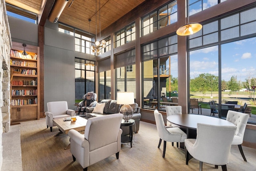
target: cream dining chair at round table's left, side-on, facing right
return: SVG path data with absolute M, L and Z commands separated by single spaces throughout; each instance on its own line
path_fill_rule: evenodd
M 161 145 L 162 140 L 164 140 L 164 150 L 163 150 L 163 157 L 165 156 L 166 151 L 166 141 L 169 142 L 184 142 L 184 140 L 187 138 L 187 134 L 184 133 L 180 128 L 178 127 L 169 127 L 166 128 L 164 125 L 164 119 L 161 113 L 158 112 L 158 110 L 154 111 L 155 119 L 156 119 L 156 128 L 158 131 L 158 135 L 160 137 L 158 148 Z

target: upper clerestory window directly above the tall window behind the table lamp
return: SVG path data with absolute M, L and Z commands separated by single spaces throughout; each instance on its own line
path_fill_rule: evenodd
M 135 40 L 135 23 L 116 33 L 115 47 Z

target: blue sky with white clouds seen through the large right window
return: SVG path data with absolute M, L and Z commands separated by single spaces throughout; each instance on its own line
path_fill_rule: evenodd
M 256 38 L 222 44 L 222 80 L 232 76 L 244 82 L 248 77 L 256 78 Z M 218 76 L 218 46 L 190 52 L 190 78 L 209 73 Z

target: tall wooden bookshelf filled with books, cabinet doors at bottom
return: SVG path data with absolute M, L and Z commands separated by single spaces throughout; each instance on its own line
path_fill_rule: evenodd
M 22 43 L 12 42 L 11 123 L 40 119 L 39 47 L 27 45 L 23 56 Z

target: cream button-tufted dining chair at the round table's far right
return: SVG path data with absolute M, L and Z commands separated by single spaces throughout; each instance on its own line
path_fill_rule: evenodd
M 228 114 L 226 117 L 227 121 L 234 123 L 234 125 L 236 125 L 236 127 L 237 127 L 232 145 L 238 145 L 239 151 L 240 151 L 244 161 L 246 161 L 246 158 L 244 156 L 244 152 L 243 152 L 241 144 L 243 143 L 244 131 L 246 128 L 248 118 L 249 118 L 248 114 L 241 113 L 238 111 L 232 111 L 232 110 L 228 111 Z

